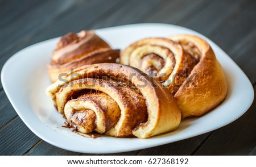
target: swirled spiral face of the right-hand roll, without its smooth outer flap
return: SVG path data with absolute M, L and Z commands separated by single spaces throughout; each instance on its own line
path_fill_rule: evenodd
M 196 62 L 179 44 L 160 37 L 139 40 L 120 55 L 121 64 L 141 69 L 163 82 L 172 93 L 176 93 Z

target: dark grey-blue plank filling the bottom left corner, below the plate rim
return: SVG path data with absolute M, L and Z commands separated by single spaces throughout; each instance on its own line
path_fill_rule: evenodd
M 40 140 L 17 116 L 0 130 L 0 155 L 23 155 Z

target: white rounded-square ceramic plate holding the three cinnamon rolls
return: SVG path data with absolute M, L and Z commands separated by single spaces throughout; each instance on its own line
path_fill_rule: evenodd
M 16 53 L 3 66 L 1 80 L 11 104 L 23 122 L 37 136 L 48 143 L 75 152 L 114 153 L 134 151 L 172 143 L 223 127 L 239 118 L 250 107 L 253 87 L 242 70 L 220 47 L 207 37 L 187 28 L 170 24 L 132 24 L 96 30 L 113 48 L 125 48 L 143 37 L 166 37 L 194 34 L 212 46 L 228 81 L 225 101 L 200 118 L 186 119 L 177 130 L 150 139 L 129 139 L 102 136 L 84 137 L 63 128 L 64 119 L 46 96 L 49 81 L 46 66 L 58 38 L 31 45 Z

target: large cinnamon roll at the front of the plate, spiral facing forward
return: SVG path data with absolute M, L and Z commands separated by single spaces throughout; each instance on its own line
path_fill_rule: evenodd
M 46 92 L 57 111 L 82 133 L 147 138 L 175 130 L 181 119 L 169 90 L 127 65 L 85 65 Z

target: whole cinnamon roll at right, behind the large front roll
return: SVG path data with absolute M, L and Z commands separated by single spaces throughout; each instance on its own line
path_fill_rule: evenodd
M 162 82 L 177 99 L 183 118 L 201 116 L 226 97 L 222 68 L 210 45 L 197 36 L 139 40 L 121 52 L 120 63 Z

